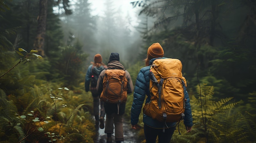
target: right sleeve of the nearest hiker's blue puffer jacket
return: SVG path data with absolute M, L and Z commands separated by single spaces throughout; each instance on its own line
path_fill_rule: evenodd
M 191 112 L 191 106 L 190 106 L 190 99 L 189 99 L 189 93 L 186 91 L 186 87 L 185 87 L 185 99 L 186 99 L 186 103 L 185 103 L 185 117 L 184 117 L 184 124 L 185 126 L 188 127 L 192 127 L 193 126 L 193 119 L 192 119 L 192 112 Z

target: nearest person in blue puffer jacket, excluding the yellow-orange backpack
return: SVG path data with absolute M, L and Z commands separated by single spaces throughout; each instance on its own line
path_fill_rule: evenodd
M 141 108 L 143 107 L 145 96 L 146 103 L 150 101 L 150 89 L 149 82 L 150 78 L 148 77 L 148 73 L 150 71 L 150 66 L 155 59 L 165 58 L 164 50 L 159 43 L 154 43 L 148 48 L 146 67 L 141 68 L 139 74 L 136 79 L 134 93 L 133 93 L 133 103 L 131 108 L 131 125 L 132 129 L 138 128 L 139 114 L 141 112 Z M 185 93 L 186 104 L 185 104 L 185 117 L 184 124 L 186 126 L 187 132 L 192 130 L 193 119 L 191 114 L 191 106 L 189 103 L 189 95 Z M 158 143 L 170 143 L 173 132 L 176 129 L 176 122 L 166 123 L 165 132 L 163 132 L 163 122 L 159 122 L 157 120 L 152 119 L 146 114 L 143 114 L 143 122 L 144 122 L 144 135 L 146 138 L 146 143 L 155 143 L 158 136 Z

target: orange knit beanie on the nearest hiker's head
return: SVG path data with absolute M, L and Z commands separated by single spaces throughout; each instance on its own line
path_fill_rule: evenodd
M 154 43 L 148 47 L 148 59 L 164 57 L 164 50 L 159 43 Z

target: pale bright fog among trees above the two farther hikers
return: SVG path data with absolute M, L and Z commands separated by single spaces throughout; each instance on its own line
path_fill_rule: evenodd
M 120 55 L 123 63 L 135 62 L 140 52 L 141 33 L 139 33 L 138 7 L 132 6 L 132 0 L 74 0 L 72 15 L 61 17 L 64 28 L 64 41 L 77 40 L 82 50 L 89 54 L 88 62 L 100 53 L 103 62 L 108 62 L 110 53 Z M 56 7 L 57 8 L 57 7 Z M 59 12 L 56 9 L 56 12 Z M 146 57 L 146 55 L 145 55 Z

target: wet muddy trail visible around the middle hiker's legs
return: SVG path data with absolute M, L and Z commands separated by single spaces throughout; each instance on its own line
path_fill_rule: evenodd
M 130 122 L 123 119 L 123 127 L 124 127 L 124 142 L 122 143 L 138 143 L 137 141 L 137 130 L 132 130 Z M 98 138 L 94 143 L 106 143 L 107 134 L 104 133 L 105 128 L 98 130 Z M 112 134 L 112 143 L 115 143 L 115 128 L 114 133 Z

